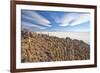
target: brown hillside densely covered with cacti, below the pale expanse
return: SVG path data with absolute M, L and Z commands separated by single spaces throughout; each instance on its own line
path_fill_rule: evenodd
M 90 46 L 82 40 L 21 31 L 21 62 L 87 60 Z

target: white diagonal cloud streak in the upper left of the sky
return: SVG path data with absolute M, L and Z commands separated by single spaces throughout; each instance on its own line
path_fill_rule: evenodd
M 33 11 L 23 11 L 24 13 L 27 13 L 29 16 L 27 16 L 28 19 L 35 21 L 37 24 L 41 24 L 47 27 L 51 27 L 51 22 L 41 16 L 40 14 L 33 12 Z

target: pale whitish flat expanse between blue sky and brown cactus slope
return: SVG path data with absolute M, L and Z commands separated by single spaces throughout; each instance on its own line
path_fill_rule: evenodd
M 49 36 L 56 36 L 59 38 L 70 37 L 71 39 L 83 40 L 85 43 L 90 44 L 90 32 L 36 32 L 39 34 L 47 34 Z

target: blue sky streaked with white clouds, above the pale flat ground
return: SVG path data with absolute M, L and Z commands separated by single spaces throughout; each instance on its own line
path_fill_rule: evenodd
M 82 12 L 21 10 L 22 28 L 46 32 L 89 32 L 90 14 Z

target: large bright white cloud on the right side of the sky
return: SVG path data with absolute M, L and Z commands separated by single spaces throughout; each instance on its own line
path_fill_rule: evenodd
M 67 13 L 61 18 L 59 26 L 75 26 L 89 21 L 89 14 Z

